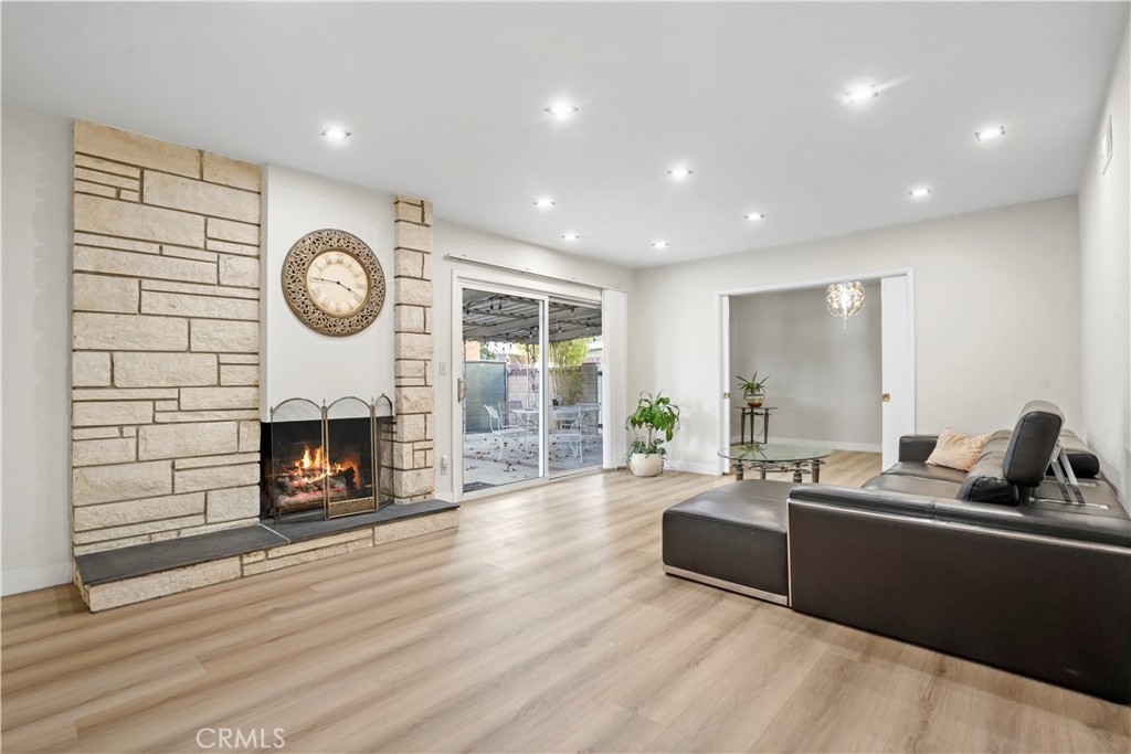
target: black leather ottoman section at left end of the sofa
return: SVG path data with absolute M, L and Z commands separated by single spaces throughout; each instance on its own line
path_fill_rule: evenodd
M 664 511 L 664 571 L 789 604 L 786 510 L 792 482 L 748 479 Z

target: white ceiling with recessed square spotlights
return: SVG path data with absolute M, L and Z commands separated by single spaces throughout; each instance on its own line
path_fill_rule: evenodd
M 5 2 L 2 97 L 646 267 L 1076 193 L 1128 7 Z

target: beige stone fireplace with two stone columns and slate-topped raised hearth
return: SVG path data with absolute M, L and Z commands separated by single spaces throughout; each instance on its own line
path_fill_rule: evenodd
M 456 526 L 456 506 L 431 500 L 430 203 L 392 199 L 385 422 L 373 428 L 372 406 L 359 416 L 364 401 L 327 405 L 319 442 L 303 441 L 309 458 L 286 437 L 297 426 L 279 430 L 299 453 L 285 459 L 294 482 L 279 518 L 357 515 L 266 529 L 261 451 L 275 432 L 260 421 L 261 303 L 278 270 L 261 269 L 262 168 L 86 121 L 74 135 L 72 551 L 90 608 Z M 304 475 L 304 462 L 320 471 Z M 274 486 L 283 470 L 271 474 Z

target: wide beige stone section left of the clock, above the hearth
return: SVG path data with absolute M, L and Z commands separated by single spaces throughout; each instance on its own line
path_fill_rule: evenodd
M 75 123 L 76 555 L 258 519 L 260 179 Z

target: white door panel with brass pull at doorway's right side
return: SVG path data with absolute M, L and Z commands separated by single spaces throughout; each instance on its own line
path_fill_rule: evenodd
M 883 468 L 899 460 L 899 437 L 915 432 L 915 352 L 910 279 L 880 280 L 880 330 L 883 353 Z

